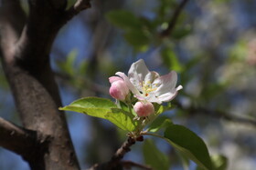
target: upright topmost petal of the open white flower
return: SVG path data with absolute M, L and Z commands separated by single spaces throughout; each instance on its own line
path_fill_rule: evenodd
M 140 59 L 139 61 L 131 65 L 128 72 L 128 77 L 132 82 L 132 84 L 135 85 L 137 88 L 139 88 L 142 86 L 141 84 L 144 81 L 144 77 L 148 73 L 149 73 L 149 70 L 144 64 L 144 60 Z

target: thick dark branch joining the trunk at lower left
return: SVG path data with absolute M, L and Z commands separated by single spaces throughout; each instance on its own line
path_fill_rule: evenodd
M 0 117 L 0 139 L 1 146 L 27 157 L 33 152 L 37 135 L 35 131 L 18 127 Z

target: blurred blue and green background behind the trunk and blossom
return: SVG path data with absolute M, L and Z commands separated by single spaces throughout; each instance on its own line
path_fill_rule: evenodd
M 69 0 L 68 6 L 74 2 Z M 133 62 L 143 58 L 150 70 L 161 75 L 175 70 L 178 85 L 184 87 L 172 102 L 174 109 L 163 115 L 202 137 L 210 155 L 217 155 L 223 167 L 253 170 L 256 1 L 188 0 L 172 32 L 162 34 L 180 2 L 91 1 L 91 9 L 65 25 L 52 47 L 51 64 L 62 103 L 69 105 L 85 96 L 111 98 L 108 77 L 117 71 L 127 73 Z M 28 13 L 27 1 L 21 3 Z M 20 125 L 10 88 L 0 70 L 1 117 Z M 82 169 L 108 161 L 126 139 L 107 121 L 78 113 L 66 115 Z M 132 152 L 123 159 L 149 165 L 145 156 L 151 146 L 164 153 L 158 153 L 166 163 L 163 169 L 196 169 L 194 163 L 187 165 L 180 159 L 165 141 L 152 142 L 151 137 L 146 140 L 133 145 Z M 29 168 L 19 155 L 0 148 L 0 169 Z

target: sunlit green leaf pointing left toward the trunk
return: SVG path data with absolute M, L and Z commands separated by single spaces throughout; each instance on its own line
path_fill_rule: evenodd
M 86 97 L 76 100 L 65 107 L 60 107 L 59 110 L 74 111 L 106 119 L 105 115 L 112 113 L 112 108 L 115 107 L 116 105 L 109 99 Z

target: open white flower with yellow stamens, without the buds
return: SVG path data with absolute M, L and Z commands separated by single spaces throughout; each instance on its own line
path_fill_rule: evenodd
M 168 102 L 177 95 L 178 90 L 182 89 L 181 85 L 176 87 L 175 71 L 160 76 L 154 71 L 150 72 L 142 59 L 131 65 L 128 77 L 122 72 L 117 72 L 116 75 L 123 78 L 135 97 L 148 102 L 158 104 Z

